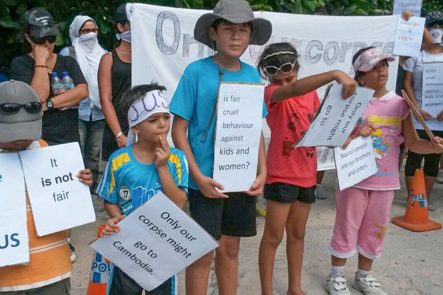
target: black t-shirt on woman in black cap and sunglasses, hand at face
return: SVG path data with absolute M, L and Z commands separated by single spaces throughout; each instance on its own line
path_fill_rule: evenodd
M 11 62 L 11 79 L 31 85 L 34 65 L 35 61 L 29 54 L 15 57 Z M 62 77 L 63 71 L 67 71 L 75 85 L 86 84 L 77 61 L 70 56 L 57 55 L 53 71 L 58 73 L 59 78 Z M 48 73 L 48 75 L 50 79 L 50 74 Z M 52 89 L 49 90 L 49 97 L 54 97 Z M 53 109 L 44 112 L 42 138 L 49 145 L 79 142 L 78 119 L 78 109 L 64 111 Z

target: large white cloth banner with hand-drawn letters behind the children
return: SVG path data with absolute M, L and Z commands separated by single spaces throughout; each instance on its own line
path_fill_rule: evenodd
M 165 86 L 171 99 L 184 69 L 192 62 L 214 54 L 194 39 L 197 19 L 212 11 L 183 9 L 148 4 L 131 4 L 132 85 Z M 398 16 L 328 16 L 278 12 L 254 12 L 272 23 L 272 35 L 263 46 L 250 45 L 240 57 L 255 67 L 266 46 L 288 42 L 299 57 L 299 78 L 331 69 L 354 75 L 352 57 L 361 48 L 375 46 L 391 55 L 394 48 Z M 288 25 L 290 24 L 290 25 Z M 309 24 L 316 24 L 315 26 Z M 294 30 L 293 28 L 300 28 Z M 390 63 L 386 88 L 395 90 L 398 60 Z M 146 71 L 155 69 L 155 71 Z M 318 90 L 323 97 L 326 87 Z M 265 138 L 270 130 L 263 120 Z

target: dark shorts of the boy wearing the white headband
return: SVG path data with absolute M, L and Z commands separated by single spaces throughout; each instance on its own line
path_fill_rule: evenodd
M 143 287 L 137 284 L 120 268 L 114 265 L 110 280 L 109 295 L 141 295 Z M 144 291 L 145 295 L 171 295 L 172 288 L 177 285 L 176 276 L 166 280 L 152 291 Z

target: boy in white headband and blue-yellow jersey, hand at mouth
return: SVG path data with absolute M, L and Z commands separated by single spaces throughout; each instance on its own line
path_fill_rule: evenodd
M 162 90 L 165 88 L 156 84 L 140 85 L 122 97 L 131 129 L 126 147 L 110 156 L 97 188 L 110 217 L 102 234 L 119 231 L 117 223 L 158 191 L 180 208 L 186 202 L 188 162 L 181 150 L 168 145 L 166 136 L 171 114 Z M 137 142 L 135 135 L 138 136 Z M 114 266 L 108 294 L 138 295 L 142 290 L 140 285 Z M 177 294 L 176 276 L 154 290 L 146 291 L 146 294 Z

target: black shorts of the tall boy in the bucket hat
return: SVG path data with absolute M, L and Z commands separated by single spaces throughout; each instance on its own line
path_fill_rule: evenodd
M 188 189 L 191 217 L 215 240 L 222 234 L 233 237 L 253 237 L 255 198 L 244 192 L 228 192 L 228 199 L 206 198 L 199 190 Z

